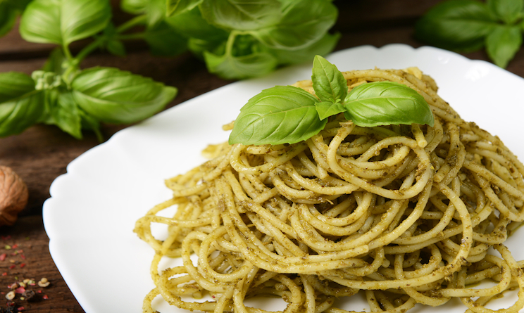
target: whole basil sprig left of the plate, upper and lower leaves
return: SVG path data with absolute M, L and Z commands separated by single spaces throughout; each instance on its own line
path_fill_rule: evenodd
M 113 27 L 107 0 L 33 0 L 27 4 L 20 35 L 27 41 L 58 47 L 31 76 L 0 73 L 0 136 L 18 134 L 42 122 L 77 139 L 82 138 L 82 129 L 92 129 L 102 140 L 101 122 L 129 124 L 162 110 L 175 97 L 174 87 L 117 68 L 82 70 L 79 66 L 97 48 L 125 54 L 121 33 L 136 23 Z M 162 51 L 160 40 L 155 40 L 159 34 L 154 33 L 162 32 L 162 25 L 155 27 L 146 32 L 147 38 Z M 70 44 L 89 37 L 92 42 L 73 56 Z

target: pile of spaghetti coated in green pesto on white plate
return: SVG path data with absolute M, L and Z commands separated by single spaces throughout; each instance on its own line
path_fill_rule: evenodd
M 511 289 L 518 300 L 500 312 L 524 307 L 524 262 L 504 245 L 524 219 L 524 166 L 418 69 L 343 74 L 349 89 L 383 80 L 415 89 L 434 127 L 363 128 L 339 116 L 292 145 L 208 147 L 210 160 L 168 179 L 173 198 L 136 223 L 156 250 L 144 312 L 161 295 L 192 311 L 266 312 L 244 300 L 277 296 L 284 312 L 338 313 L 347 311 L 335 300 L 359 292 L 371 312 L 451 298 L 493 312 L 487 302 Z M 158 214 L 173 205 L 173 217 Z M 167 238 L 151 234 L 154 223 L 168 225 Z M 160 271 L 162 257 L 183 266 Z M 205 294 L 213 300 L 184 297 Z

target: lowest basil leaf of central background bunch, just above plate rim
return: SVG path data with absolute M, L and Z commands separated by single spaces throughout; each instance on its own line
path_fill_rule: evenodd
M 242 47 L 240 48 L 242 50 Z M 245 51 L 240 52 L 245 53 Z M 240 56 L 233 56 L 231 53 L 218 56 L 215 53 L 204 51 L 204 60 L 208 71 L 223 79 L 258 77 L 272 72 L 277 67 L 275 56 L 266 51 Z

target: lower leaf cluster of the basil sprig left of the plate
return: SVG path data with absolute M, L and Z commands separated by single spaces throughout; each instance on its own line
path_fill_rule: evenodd
M 61 75 L 46 71 L 60 68 L 57 55 L 32 77 L 0 73 L 0 136 L 43 122 L 77 139 L 82 138 L 82 129 L 92 129 L 102 140 L 100 122 L 138 122 L 162 110 L 177 93 L 174 87 L 116 68 L 77 72 L 68 88 Z

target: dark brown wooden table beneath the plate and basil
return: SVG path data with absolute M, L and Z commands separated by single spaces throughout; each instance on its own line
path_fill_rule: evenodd
M 413 25 L 420 15 L 437 2 L 335 1 L 339 8 L 339 19 L 333 30 L 342 34 L 336 50 L 363 44 L 423 46 L 422 42 L 413 39 Z M 125 14 L 116 13 L 117 23 L 118 19 L 124 18 L 127 18 Z M 15 29 L 0 38 L 0 72 L 15 70 L 30 74 L 44 64 L 51 48 L 51 45 L 23 41 Z M 85 60 L 83 66 L 114 66 L 175 86 L 179 94 L 169 107 L 230 83 L 210 75 L 205 65 L 189 53 L 176 58 L 158 58 L 150 56 L 141 44 L 128 49 L 129 55 L 124 58 L 95 53 Z M 466 56 L 487 60 L 483 51 Z M 517 54 L 507 70 L 524 77 L 524 51 Z M 102 132 L 108 139 L 124 127 L 104 125 Z M 37 292 L 36 300 L 18 301 L 17 305 L 24 307 L 23 312 L 84 312 L 49 255 L 49 238 L 42 223 L 42 204 L 49 198 L 51 182 L 66 172 L 68 163 L 97 144 L 99 142 L 92 133 L 85 132 L 85 138 L 77 140 L 57 127 L 43 124 L 31 127 L 23 134 L 0 139 L 0 165 L 12 167 L 25 181 L 30 192 L 29 203 L 18 222 L 14 226 L 0 228 L 0 255 L 7 255 L 6 260 L 0 261 L 0 307 L 6 305 L 3 294 L 9 291 L 11 283 L 22 279 L 38 281 L 46 277 L 51 281 L 47 288 L 32 288 Z M 11 249 L 7 250 L 7 246 Z

